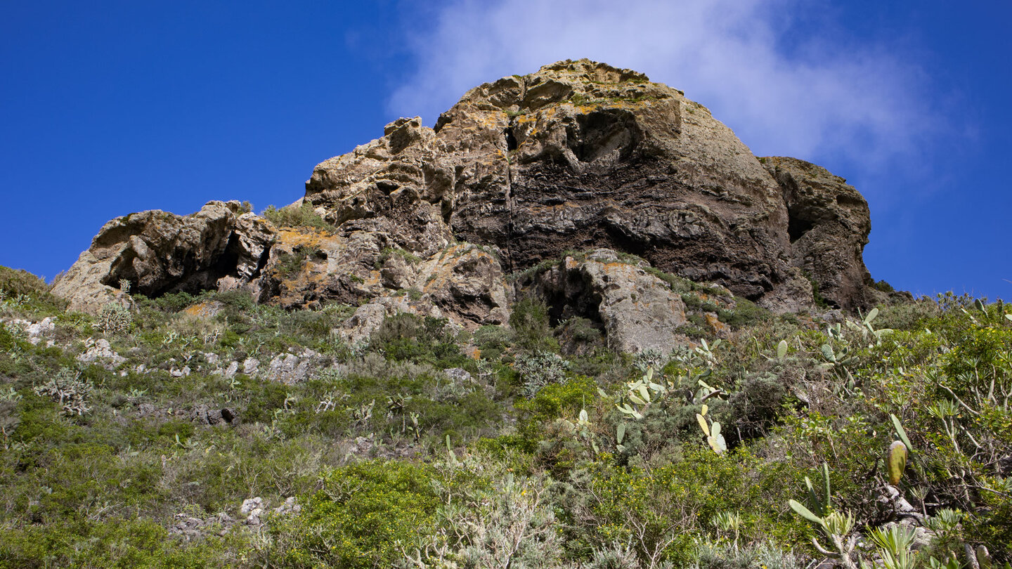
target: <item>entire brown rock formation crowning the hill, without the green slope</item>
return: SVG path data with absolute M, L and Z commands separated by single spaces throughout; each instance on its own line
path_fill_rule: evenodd
M 778 313 L 884 300 L 861 258 L 867 204 L 843 178 L 757 158 L 682 91 L 589 60 L 475 87 L 431 129 L 391 123 L 317 165 L 280 212 L 210 201 L 117 218 L 54 293 L 91 313 L 129 304 L 124 287 L 361 305 L 347 338 L 397 312 L 504 324 L 536 295 L 626 351 L 677 342 L 685 322 L 651 271 Z

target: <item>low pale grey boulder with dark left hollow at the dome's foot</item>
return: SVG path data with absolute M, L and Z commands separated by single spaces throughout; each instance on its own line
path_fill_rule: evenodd
M 586 318 L 601 327 L 612 349 L 667 352 L 683 343 L 676 330 L 686 323 L 685 304 L 645 268 L 621 261 L 615 251 L 597 249 L 583 258 L 567 256 L 538 273 L 534 290 L 547 301 L 553 320 Z

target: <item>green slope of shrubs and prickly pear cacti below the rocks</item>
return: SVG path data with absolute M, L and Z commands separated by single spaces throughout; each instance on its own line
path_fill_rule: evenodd
M 347 345 L 332 330 L 353 310 L 204 293 L 88 316 L 0 268 L 0 567 L 1012 556 L 1000 302 L 844 319 L 743 301 L 722 339 L 698 322 L 637 355 L 534 300 L 508 327 L 400 314 Z

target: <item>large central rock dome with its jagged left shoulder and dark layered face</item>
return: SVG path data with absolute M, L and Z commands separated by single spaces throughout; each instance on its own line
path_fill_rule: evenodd
M 400 212 L 399 243 L 426 254 L 438 210 L 507 271 L 608 247 L 772 307 L 812 302 L 782 192 L 748 148 L 680 91 L 588 60 L 476 87 L 435 129 L 393 123 L 317 166 L 306 199 L 338 224 Z

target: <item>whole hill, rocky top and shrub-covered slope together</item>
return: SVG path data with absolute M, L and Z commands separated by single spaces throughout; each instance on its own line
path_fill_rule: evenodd
M 680 91 L 553 64 L 251 210 L 0 266 L 0 569 L 1012 569 L 1008 305 Z

